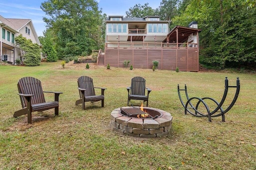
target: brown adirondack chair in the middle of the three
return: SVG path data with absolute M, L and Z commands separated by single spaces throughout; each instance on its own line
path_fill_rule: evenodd
M 94 87 L 92 78 L 88 76 L 79 77 L 77 83 L 80 99 L 76 101 L 76 105 L 82 103 L 82 108 L 85 110 L 85 102 L 101 101 L 101 107 L 104 107 L 104 90 L 106 88 Z M 101 95 L 96 95 L 94 88 L 101 89 Z

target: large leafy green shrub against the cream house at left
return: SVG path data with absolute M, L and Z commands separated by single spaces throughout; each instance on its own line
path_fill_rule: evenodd
M 40 65 L 40 47 L 37 43 L 32 43 L 31 40 L 22 37 L 22 34 L 15 37 L 15 42 L 20 46 L 20 55 L 24 58 L 26 66 Z

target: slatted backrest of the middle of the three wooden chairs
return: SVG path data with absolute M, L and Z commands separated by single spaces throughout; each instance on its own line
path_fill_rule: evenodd
M 82 89 L 86 89 L 84 95 L 85 96 L 95 96 L 95 90 L 93 86 L 93 81 L 91 77 L 81 76 L 77 80 L 78 87 Z M 80 98 L 82 98 L 82 93 L 79 91 Z

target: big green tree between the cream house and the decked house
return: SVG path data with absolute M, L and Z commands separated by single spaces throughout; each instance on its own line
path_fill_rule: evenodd
M 104 43 L 102 11 L 96 0 L 47 0 L 41 9 L 46 26 L 53 31 L 59 59 L 88 55 Z

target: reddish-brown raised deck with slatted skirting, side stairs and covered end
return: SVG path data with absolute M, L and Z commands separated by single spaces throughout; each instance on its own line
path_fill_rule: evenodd
M 105 43 L 105 53 L 98 55 L 98 65 L 124 67 L 130 60 L 134 68 L 152 69 L 158 61 L 158 69 L 199 71 L 198 32 L 196 28 L 176 26 L 161 43 L 140 41 Z M 130 40 L 138 36 L 130 36 Z M 195 39 L 196 40 L 195 40 Z M 142 36 L 142 39 L 143 36 Z M 104 63 L 103 63 L 104 60 Z M 99 62 L 101 61 L 101 62 Z

